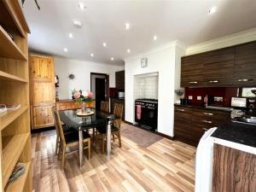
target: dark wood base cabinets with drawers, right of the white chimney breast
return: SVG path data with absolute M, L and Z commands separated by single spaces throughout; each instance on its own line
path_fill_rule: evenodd
M 230 112 L 175 106 L 174 137 L 196 146 L 208 129 L 230 120 Z

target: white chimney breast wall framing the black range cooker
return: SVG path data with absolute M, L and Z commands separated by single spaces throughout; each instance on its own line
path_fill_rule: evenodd
M 145 73 L 159 73 L 158 82 L 158 131 L 173 136 L 174 89 L 176 71 L 180 67 L 180 56 L 184 50 L 177 47 L 177 42 L 143 55 L 125 59 L 125 120 L 134 123 L 134 78 Z M 141 67 L 142 57 L 148 58 L 148 67 Z M 177 59 L 179 57 L 179 59 Z M 179 83 L 178 83 L 179 84 Z

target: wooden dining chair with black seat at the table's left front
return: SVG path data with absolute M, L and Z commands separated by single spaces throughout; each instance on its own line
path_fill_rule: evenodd
M 65 165 L 65 158 L 67 154 L 73 154 L 79 151 L 79 131 L 73 131 L 68 134 L 64 134 L 59 112 L 52 107 L 54 113 L 54 119 L 56 124 L 56 132 L 59 135 L 59 153 L 58 160 L 61 160 L 61 169 Z M 90 135 L 83 131 L 84 134 L 84 149 L 88 149 L 88 159 L 90 159 Z

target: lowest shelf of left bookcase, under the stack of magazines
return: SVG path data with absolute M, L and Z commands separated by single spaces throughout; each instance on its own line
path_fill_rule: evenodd
M 31 163 L 28 162 L 26 163 L 25 167 L 26 167 L 26 171 L 25 173 L 18 178 L 17 180 L 15 180 L 14 183 L 10 183 L 7 188 L 5 189 L 5 192 L 22 192 L 26 183 L 26 178 L 28 176 L 29 173 L 29 169 L 30 169 Z

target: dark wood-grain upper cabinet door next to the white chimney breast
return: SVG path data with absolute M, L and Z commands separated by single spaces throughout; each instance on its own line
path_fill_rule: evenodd
M 181 60 L 181 86 L 194 87 L 203 83 L 202 55 L 189 55 Z

